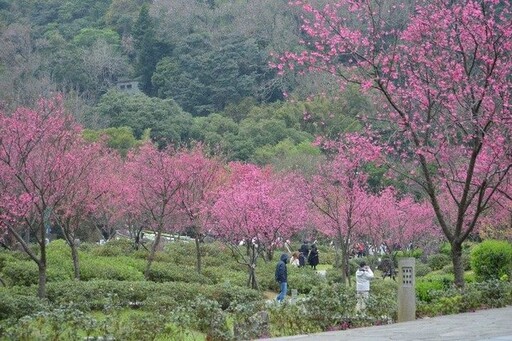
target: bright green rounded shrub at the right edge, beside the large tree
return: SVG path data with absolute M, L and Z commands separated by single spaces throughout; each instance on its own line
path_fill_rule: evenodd
M 510 279 L 512 245 L 507 241 L 485 240 L 471 252 L 471 268 L 478 281 Z

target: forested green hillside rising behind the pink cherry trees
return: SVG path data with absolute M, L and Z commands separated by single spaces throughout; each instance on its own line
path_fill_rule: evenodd
M 268 163 L 316 153 L 315 135 L 357 130 L 369 110 L 355 89 L 306 101 L 336 85 L 269 67 L 301 39 L 288 0 L 0 0 L 0 20 L 2 110 L 63 92 L 87 128 L 111 128 L 118 148 L 149 129 L 160 145 L 201 140 Z M 120 81 L 141 91 L 118 91 Z

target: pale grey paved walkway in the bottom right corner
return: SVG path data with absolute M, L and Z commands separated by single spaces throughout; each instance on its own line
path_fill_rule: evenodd
M 268 339 L 267 339 L 268 340 Z M 512 341 L 512 306 L 385 326 L 273 338 L 272 341 L 485 340 Z

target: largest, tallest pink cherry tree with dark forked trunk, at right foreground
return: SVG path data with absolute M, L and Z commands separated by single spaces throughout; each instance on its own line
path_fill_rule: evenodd
M 417 1 L 398 25 L 392 18 L 402 5 L 293 3 L 304 11 L 306 49 L 286 53 L 277 67 L 326 71 L 375 96 L 378 118 L 388 122 L 383 143 L 399 161 L 393 166 L 429 198 L 452 247 L 455 284 L 463 287 L 462 244 L 512 165 L 509 2 Z M 457 207 L 453 218 L 439 193 Z

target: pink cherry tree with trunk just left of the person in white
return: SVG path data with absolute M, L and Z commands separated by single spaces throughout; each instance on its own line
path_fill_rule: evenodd
M 363 218 L 371 209 L 368 176 L 363 167 L 378 160 L 380 149 L 357 134 L 346 134 L 325 148 L 335 154 L 322 164 L 308 184 L 319 231 L 334 238 L 341 251 L 342 280 L 349 273 L 349 252 L 353 237 L 363 228 Z

